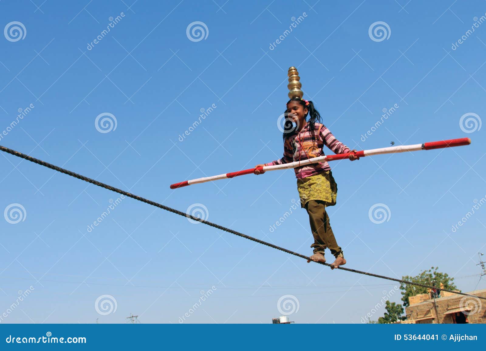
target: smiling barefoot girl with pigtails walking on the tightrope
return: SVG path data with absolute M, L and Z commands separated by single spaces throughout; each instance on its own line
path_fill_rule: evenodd
M 309 120 L 306 117 L 309 115 Z M 283 157 L 269 164 L 256 167 L 281 165 L 295 161 L 303 161 L 312 157 L 324 155 L 323 146 L 327 146 L 334 153 L 356 152 L 338 141 L 323 124 L 321 116 L 314 108 L 312 101 L 301 98 L 293 98 L 287 102 L 285 116 L 289 118 L 285 123 L 283 133 Z M 349 155 L 351 161 L 359 160 L 359 157 Z M 255 170 L 255 174 L 264 171 Z M 336 204 L 337 185 L 332 177 L 331 168 L 327 161 L 295 168 L 297 177 L 297 190 L 299 192 L 301 207 L 307 210 L 314 236 L 314 249 L 310 257 L 315 262 L 326 262 L 324 251 L 330 249 L 336 258 L 331 268 L 345 265 L 343 251 L 339 247 L 332 233 L 326 206 Z M 310 260 L 307 262 L 311 262 Z

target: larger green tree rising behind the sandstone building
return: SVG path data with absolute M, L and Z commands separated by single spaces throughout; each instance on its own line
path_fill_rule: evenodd
M 457 290 L 457 286 L 454 284 L 454 278 L 450 277 L 447 273 L 442 273 L 437 271 L 439 267 L 431 267 L 429 270 L 424 270 L 420 274 L 416 275 L 415 277 L 411 277 L 408 275 L 403 276 L 402 280 L 407 280 L 409 282 L 424 284 L 424 285 L 434 285 L 437 288 L 440 287 L 440 284 L 444 284 L 444 289 L 448 290 Z M 416 285 L 407 285 L 407 284 L 400 284 L 400 290 L 403 301 L 403 306 L 408 307 L 410 302 L 408 301 L 409 296 L 415 296 L 418 294 L 426 294 L 427 288 L 422 286 Z

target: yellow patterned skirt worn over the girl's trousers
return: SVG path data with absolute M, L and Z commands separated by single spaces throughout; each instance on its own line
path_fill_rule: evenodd
M 337 184 L 330 170 L 307 178 L 297 179 L 297 190 L 302 208 L 309 200 L 325 201 L 326 206 L 336 204 Z

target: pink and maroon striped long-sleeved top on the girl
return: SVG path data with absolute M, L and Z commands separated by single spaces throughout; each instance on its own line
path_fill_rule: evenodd
M 337 140 L 330 130 L 323 124 L 315 123 L 315 129 L 309 130 L 309 123 L 300 130 L 300 132 L 289 133 L 283 143 L 283 157 L 279 160 L 269 163 L 268 166 L 282 165 L 308 158 L 324 155 L 323 146 L 326 145 L 335 154 L 347 153 L 349 148 Z M 316 175 L 322 171 L 330 170 L 331 167 L 327 161 L 319 162 L 312 165 L 294 168 L 295 176 L 299 179 Z

